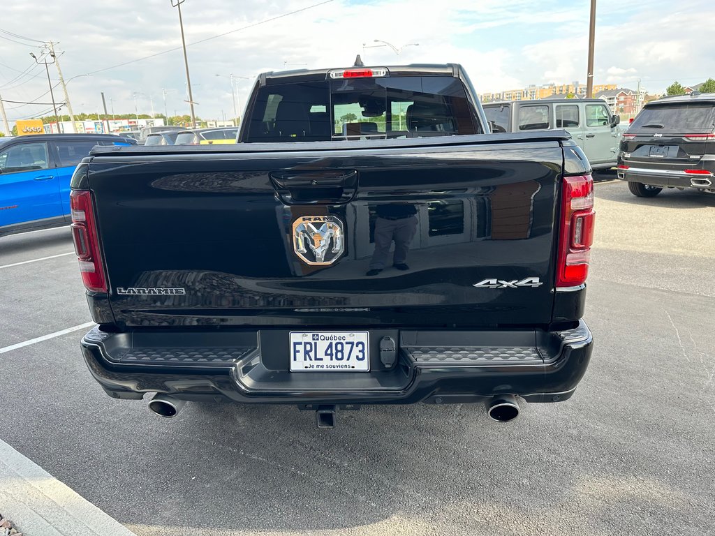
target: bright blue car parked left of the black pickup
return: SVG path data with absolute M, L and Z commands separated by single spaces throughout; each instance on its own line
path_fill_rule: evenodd
M 69 179 L 95 145 L 136 145 L 112 134 L 0 138 L 0 237 L 71 223 Z

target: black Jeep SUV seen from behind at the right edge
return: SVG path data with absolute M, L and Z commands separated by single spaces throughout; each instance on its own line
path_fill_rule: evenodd
M 623 134 L 618 179 L 638 197 L 664 188 L 715 193 L 715 94 L 671 96 L 646 104 Z

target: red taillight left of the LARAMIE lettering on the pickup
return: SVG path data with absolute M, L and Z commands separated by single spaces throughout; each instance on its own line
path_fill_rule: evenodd
M 92 206 L 92 194 L 72 190 L 69 194 L 69 207 L 72 213 L 70 227 L 74 240 L 74 252 L 79 260 L 82 282 L 87 290 L 107 292 L 104 263 L 99 250 L 97 221 L 94 219 L 94 207 Z

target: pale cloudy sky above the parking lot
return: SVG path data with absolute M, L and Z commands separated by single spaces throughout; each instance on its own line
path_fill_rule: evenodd
M 460 63 L 480 94 L 586 83 L 589 12 L 589 0 L 182 4 L 202 119 L 233 116 L 230 74 L 240 115 L 257 74 L 350 66 L 356 54 L 373 66 Z M 594 84 L 636 89 L 640 79 L 650 93 L 662 93 L 674 80 L 687 85 L 715 78 L 714 27 L 713 0 L 598 0 Z M 151 114 L 152 103 L 156 113 L 189 113 L 179 15 L 171 0 L 3 0 L 0 96 L 19 101 L 5 103 L 11 121 L 52 114 L 51 104 L 44 104 L 50 102 L 44 66 L 29 55 L 41 57 L 43 41 L 56 42 L 62 52 L 76 114 L 102 111 L 102 91 L 110 114 L 134 113 L 135 102 L 139 114 Z M 57 72 L 54 65 L 49 69 L 54 85 Z M 63 102 L 61 88 L 54 92 Z M 36 104 L 20 104 L 28 101 Z

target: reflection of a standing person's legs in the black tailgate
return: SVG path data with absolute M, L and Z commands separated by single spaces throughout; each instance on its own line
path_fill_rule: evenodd
M 370 259 L 367 275 L 377 275 L 383 271 L 390 254 L 390 245 L 395 242 L 393 266 L 398 270 L 408 270 L 407 252 L 417 230 L 417 208 L 406 203 L 382 204 L 375 208 L 375 252 Z

